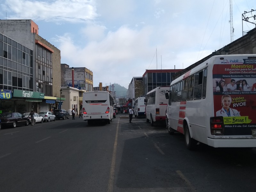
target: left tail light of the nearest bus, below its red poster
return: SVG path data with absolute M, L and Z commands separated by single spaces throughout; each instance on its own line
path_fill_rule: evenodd
M 210 118 L 210 129 L 212 135 L 224 134 L 224 121 L 222 116 Z

